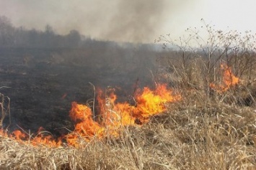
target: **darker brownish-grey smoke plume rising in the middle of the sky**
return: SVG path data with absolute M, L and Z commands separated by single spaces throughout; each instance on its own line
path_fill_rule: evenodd
M 166 4 L 163 0 L 119 1 L 102 37 L 131 42 L 151 41 L 151 35 L 162 26 Z

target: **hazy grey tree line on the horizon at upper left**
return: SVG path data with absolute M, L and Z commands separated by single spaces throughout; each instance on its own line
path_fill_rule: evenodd
M 44 31 L 14 27 L 9 18 L 0 16 L 0 47 L 81 47 L 92 41 L 76 30 L 58 34 L 50 25 Z

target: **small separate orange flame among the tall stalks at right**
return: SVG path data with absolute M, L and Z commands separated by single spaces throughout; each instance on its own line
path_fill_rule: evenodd
M 210 83 L 210 88 L 219 93 L 226 92 L 226 90 L 229 90 L 231 87 L 234 87 L 239 83 L 239 78 L 232 73 L 231 67 L 228 67 L 226 64 L 221 64 L 221 70 L 223 70 L 222 84 L 216 85 L 214 83 Z

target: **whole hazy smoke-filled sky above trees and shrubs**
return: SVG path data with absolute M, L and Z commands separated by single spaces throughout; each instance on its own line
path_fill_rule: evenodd
M 181 36 L 203 18 L 217 28 L 256 31 L 255 0 L 0 0 L 0 15 L 14 26 L 60 34 L 76 29 L 97 39 L 154 42 L 160 34 Z

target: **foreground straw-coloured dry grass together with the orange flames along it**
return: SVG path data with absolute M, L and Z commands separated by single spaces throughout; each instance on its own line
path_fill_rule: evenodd
M 117 103 L 110 90 L 98 96 L 99 120 L 94 109 L 74 102 L 69 114 L 75 130 L 61 139 L 43 129 L 35 137 L 2 131 L 0 168 L 256 169 L 255 108 L 223 100 L 239 96 L 232 90 L 240 81 L 230 67 L 222 69 L 223 82 L 210 85 L 218 92 L 212 96 L 198 89 L 173 95 L 159 85 L 138 92 L 132 105 Z

